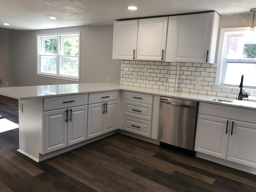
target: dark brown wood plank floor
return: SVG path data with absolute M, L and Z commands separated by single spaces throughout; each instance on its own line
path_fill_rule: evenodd
M 256 192 L 255 175 L 121 134 L 40 163 L 17 148 L 0 133 L 1 192 Z

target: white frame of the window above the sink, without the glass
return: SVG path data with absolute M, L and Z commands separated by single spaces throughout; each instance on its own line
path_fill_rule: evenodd
M 244 31 L 243 34 L 241 32 Z M 247 32 L 247 33 L 246 33 Z M 227 44 L 230 41 L 229 34 L 238 34 L 238 36 L 246 36 L 250 32 L 250 26 L 246 27 L 230 27 L 230 28 L 221 28 L 220 29 L 220 40 L 219 40 L 219 48 L 218 48 L 218 58 L 217 58 L 217 69 L 216 69 L 216 80 L 215 86 L 221 87 L 234 87 L 234 85 L 224 84 L 224 72 L 226 71 L 227 62 L 256 62 L 255 59 L 238 59 L 232 60 L 227 59 L 228 55 Z M 235 86 L 237 88 L 237 86 Z M 248 87 L 255 89 L 256 87 Z

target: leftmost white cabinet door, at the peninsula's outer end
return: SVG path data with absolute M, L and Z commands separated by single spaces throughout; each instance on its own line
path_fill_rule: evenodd
M 44 154 L 67 146 L 67 109 L 44 112 Z

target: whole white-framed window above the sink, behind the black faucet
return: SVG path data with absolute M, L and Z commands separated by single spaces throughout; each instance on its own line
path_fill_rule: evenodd
M 243 74 L 243 86 L 256 88 L 256 33 L 249 27 L 222 28 L 218 64 L 218 85 L 238 87 Z

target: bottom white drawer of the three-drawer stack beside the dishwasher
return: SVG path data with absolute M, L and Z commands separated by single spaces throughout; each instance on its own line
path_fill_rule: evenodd
M 146 137 L 150 137 L 151 122 L 124 116 L 124 130 Z

